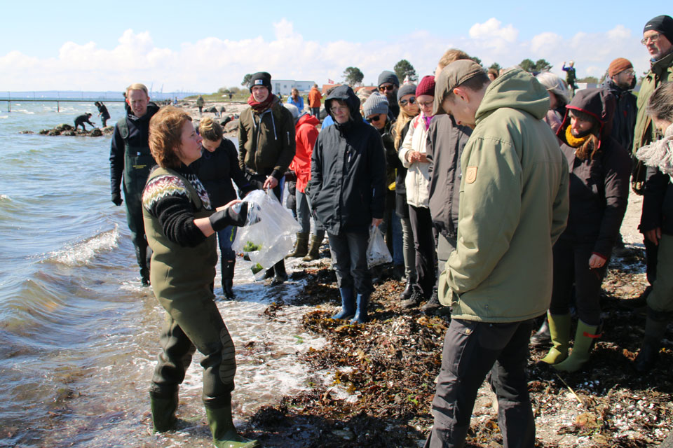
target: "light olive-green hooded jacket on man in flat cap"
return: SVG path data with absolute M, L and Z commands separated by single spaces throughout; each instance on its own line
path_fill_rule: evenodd
M 545 87 L 521 69 L 487 87 L 461 157 L 458 244 L 439 280 L 452 318 L 516 322 L 549 307 L 569 171 L 548 109 Z

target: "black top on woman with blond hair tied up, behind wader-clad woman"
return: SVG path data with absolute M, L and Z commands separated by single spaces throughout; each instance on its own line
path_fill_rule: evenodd
M 226 137 L 212 153 L 201 148 L 201 158 L 189 165 L 189 168 L 208 191 L 213 209 L 236 199 L 236 190 L 231 181 L 236 182 L 242 196 L 254 190 L 238 167 L 236 146 Z

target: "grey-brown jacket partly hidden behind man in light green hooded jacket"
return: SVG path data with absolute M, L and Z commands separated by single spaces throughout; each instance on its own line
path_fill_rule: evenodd
M 469 127 L 456 125 L 453 117 L 444 114 L 434 116 L 428 128 L 430 215 L 435 229 L 447 239 L 458 235 L 461 155 L 470 135 Z

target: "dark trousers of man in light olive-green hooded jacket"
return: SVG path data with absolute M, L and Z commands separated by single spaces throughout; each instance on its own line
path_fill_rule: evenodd
M 435 424 L 425 448 L 463 447 L 477 391 L 489 372 L 491 388 L 498 397 L 498 426 L 504 447 L 533 448 L 535 419 L 526 377 L 531 330 L 532 320 L 451 320 L 433 399 Z

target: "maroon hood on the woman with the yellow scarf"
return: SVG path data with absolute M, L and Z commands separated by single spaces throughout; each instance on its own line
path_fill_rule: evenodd
M 566 106 L 566 116 L 556 132 L 557 136 L 561 137 L 566 132 L 566 127 L 570 125 L 568 111 L 572 109 L 588 113 L 595 118 L 599 123 L 599 140 L 603 140 L 610 135 L 612 130 L 616 105 L 617 100 L 609 90 L 599 88 L 578 90 L 573 100 Z

